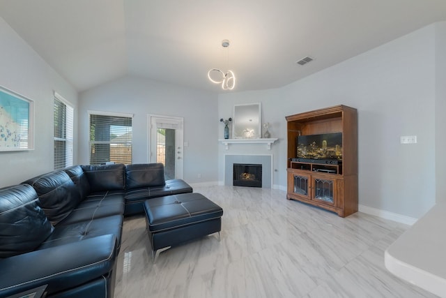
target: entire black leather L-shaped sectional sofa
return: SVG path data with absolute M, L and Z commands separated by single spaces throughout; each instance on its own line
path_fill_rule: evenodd
M 161 163 L 75 165 L 0 189 L 0 297 L 113 297 L 123 216 L 191 193 Z

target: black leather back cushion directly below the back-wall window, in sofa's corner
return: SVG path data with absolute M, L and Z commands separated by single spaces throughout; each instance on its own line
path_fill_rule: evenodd
M 125 165 L 82 165 L 92 193 L 118 191 L 125 188 Z

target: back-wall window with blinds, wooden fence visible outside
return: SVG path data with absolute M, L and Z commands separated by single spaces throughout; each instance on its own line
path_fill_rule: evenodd
M 132 115 L 89 112 L 91 165 L 132 163 Z

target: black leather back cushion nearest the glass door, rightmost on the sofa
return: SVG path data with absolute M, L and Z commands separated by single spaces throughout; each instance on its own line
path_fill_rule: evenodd
M 127 189 L 164 186 L 164 165 L 162 163 L 126 165 L 125 184 Z

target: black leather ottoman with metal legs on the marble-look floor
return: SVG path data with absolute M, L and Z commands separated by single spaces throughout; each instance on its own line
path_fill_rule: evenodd
M 161 248 L 222 230 L 223 209 L 201 193 L 183 193 L 144 202 L 153 262 Z M 163 249 L 164 251 L 164 249 Z

